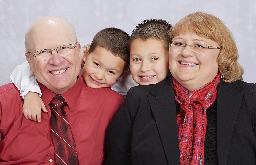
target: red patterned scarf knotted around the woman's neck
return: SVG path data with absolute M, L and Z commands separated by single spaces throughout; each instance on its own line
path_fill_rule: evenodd
M 176 104 L 180 104 L 177 115 L 180 164 L 204 164 L 204 139 L 206 133 L 206 110 L 218 95 L 220 74 L 206 85 L 188 92 L 173 77 Z

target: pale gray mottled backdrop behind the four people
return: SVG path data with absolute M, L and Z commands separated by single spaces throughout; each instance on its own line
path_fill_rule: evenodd
M 83 45 L 106 27 L 131 34 L 145 19 L 161 18 L 174 24 L 195 11 L 211 13 L 225 22 L 238 46 L 244 81 L 256 83 L 255 0 L 0 0 L 0 85 L 10 83 L 15 66 L 26 60 L 24 34 L 40 17 L 69 20 Z

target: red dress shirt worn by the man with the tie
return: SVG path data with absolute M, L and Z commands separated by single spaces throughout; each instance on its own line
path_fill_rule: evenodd
M 55 96 L 39 83 L 42 100 L 48 105 Z M 42 112 L 40 123 L 23 116 L 23 100 L 13 83 L 0 87 L 0 163 L 55 164 L 50 126 L 51 108 Z M 110 88 L 93 89 L 79 75 L 77 82 L 62 97 L 76 143 L 79 163 L 102 164 L 105 129 L 123 103 L 124 97 Z

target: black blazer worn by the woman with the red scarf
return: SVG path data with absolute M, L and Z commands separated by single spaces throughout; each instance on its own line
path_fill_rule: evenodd
M 256 164 L 256 84 L 219 84 L 219 165 Z M 180 165 L 172 79 L 131 88 L 105 136 L 105 164 Z

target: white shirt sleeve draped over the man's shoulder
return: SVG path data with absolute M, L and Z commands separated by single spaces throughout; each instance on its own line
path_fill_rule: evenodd
M 20 90 L 20 96 L 23 99 L 28 92 L 36 92 L 39 94 L 39 97 L 42 96 L 36 77 L 34 73 L 30 71 L 28 61 L 16 66 L 10 79 L 18 90 Z

